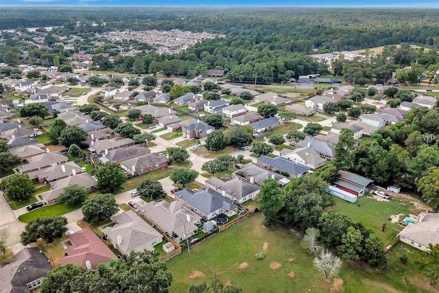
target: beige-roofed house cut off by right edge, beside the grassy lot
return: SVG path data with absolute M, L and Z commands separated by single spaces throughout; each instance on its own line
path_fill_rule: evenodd
M 410 215 L 408 222 L 399 233 L 399 240 L 423 251 L 429 251 L 429 244 L 439 244 L 439 213 Z

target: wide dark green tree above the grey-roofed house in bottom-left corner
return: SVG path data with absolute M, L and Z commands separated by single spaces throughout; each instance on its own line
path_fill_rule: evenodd
M 25 226 L 20 235 L 21 244 L 27 245 L 43 238 L 47 243 L 58 239 L 67 231 L 67 219 L 64 217 L 36 218 Z

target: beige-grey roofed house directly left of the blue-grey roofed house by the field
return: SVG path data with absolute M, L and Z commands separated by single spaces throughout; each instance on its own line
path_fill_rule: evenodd
M 201 224 L 201 217 L 178 200 L 171 203 L 152 200 L 140 206 L 139 212 L 176 243 L 198 233 L 197 225 Z

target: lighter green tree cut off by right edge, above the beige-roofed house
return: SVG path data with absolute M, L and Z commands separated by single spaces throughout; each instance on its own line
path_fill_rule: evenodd
M 431 167 L 418 180 L 416 189 L 434 210 L 439 209 L 439 168 Z

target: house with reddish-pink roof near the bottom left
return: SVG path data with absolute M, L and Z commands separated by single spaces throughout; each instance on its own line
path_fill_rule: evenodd
M 91 228 L 70 234 L 69 242 L 72 245 L 67 246 L 66 256 L 60 259 L 61 265 L 73 263 L 83 268 L 95 269 L 99 263 L 108 263 L 110 259 L 117 259 Z

